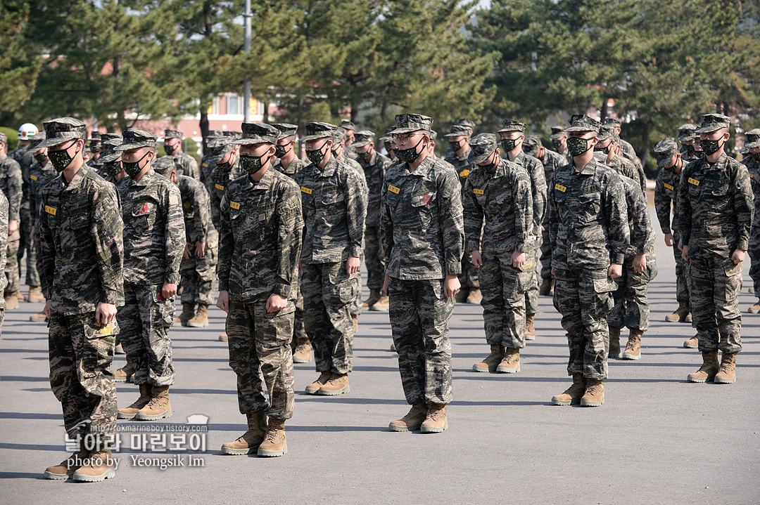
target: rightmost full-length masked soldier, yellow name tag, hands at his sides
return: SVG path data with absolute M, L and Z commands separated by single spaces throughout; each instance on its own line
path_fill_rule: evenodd
M 702 115 L 696 133 L 705 158 L 686 165 L 678 193 L 681 254 L 689 262 L 689 303 L 702 353 L 691 382 L 736 381 L 742 350 L 739 292 L 755 203 L 747 168 L 724 152 L 729 128 L 723 114 Z

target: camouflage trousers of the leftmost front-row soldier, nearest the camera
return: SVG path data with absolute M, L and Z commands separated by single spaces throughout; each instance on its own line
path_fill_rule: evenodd
M 111 371 L 116 334 L 118 322 L 103 327 L 95 322 L 95 312 L 50 314 L 50 388 L 61 402 L 64 428 L 72 438 L 87 432 L 116 436 L 116 383 Z

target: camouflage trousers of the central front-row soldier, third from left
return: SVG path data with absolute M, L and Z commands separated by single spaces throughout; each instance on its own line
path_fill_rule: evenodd
M 388 281 L 388 315 L 407 403 L 451 403 L 448 320 L 454 300 L 443 296 L 443 279 Z

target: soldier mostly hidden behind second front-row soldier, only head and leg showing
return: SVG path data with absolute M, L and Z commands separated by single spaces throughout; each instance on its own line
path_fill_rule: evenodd
M 296 131 L 298 126 L 289 123 L 275 123 L 273 127 L 280 130 L 280 136 L 277 138 L 274 155 L 277 159 L 272 162 L 274 170 L 287 175 L 295 180 L 296 174 L 308 162 L 304 162 L 296 156 Z M 306 328 L 303 325 L 303 294 L 301 293 L 301 284 L 298 286 L 298 296 L 296 297 L 296 315 L 293 318 L 293 362 L 308 363 L 312 360 L 312 343 L 306 335 Z

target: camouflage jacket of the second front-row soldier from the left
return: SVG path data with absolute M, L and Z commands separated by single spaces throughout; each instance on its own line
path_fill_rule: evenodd
M 239 302 L 273 293 L 294 300 L 302 228 L 299 187 L 287 175 L 270 167 L 258 182 L 248 175 L 230 182 L 222 199 L 219 289 Z

